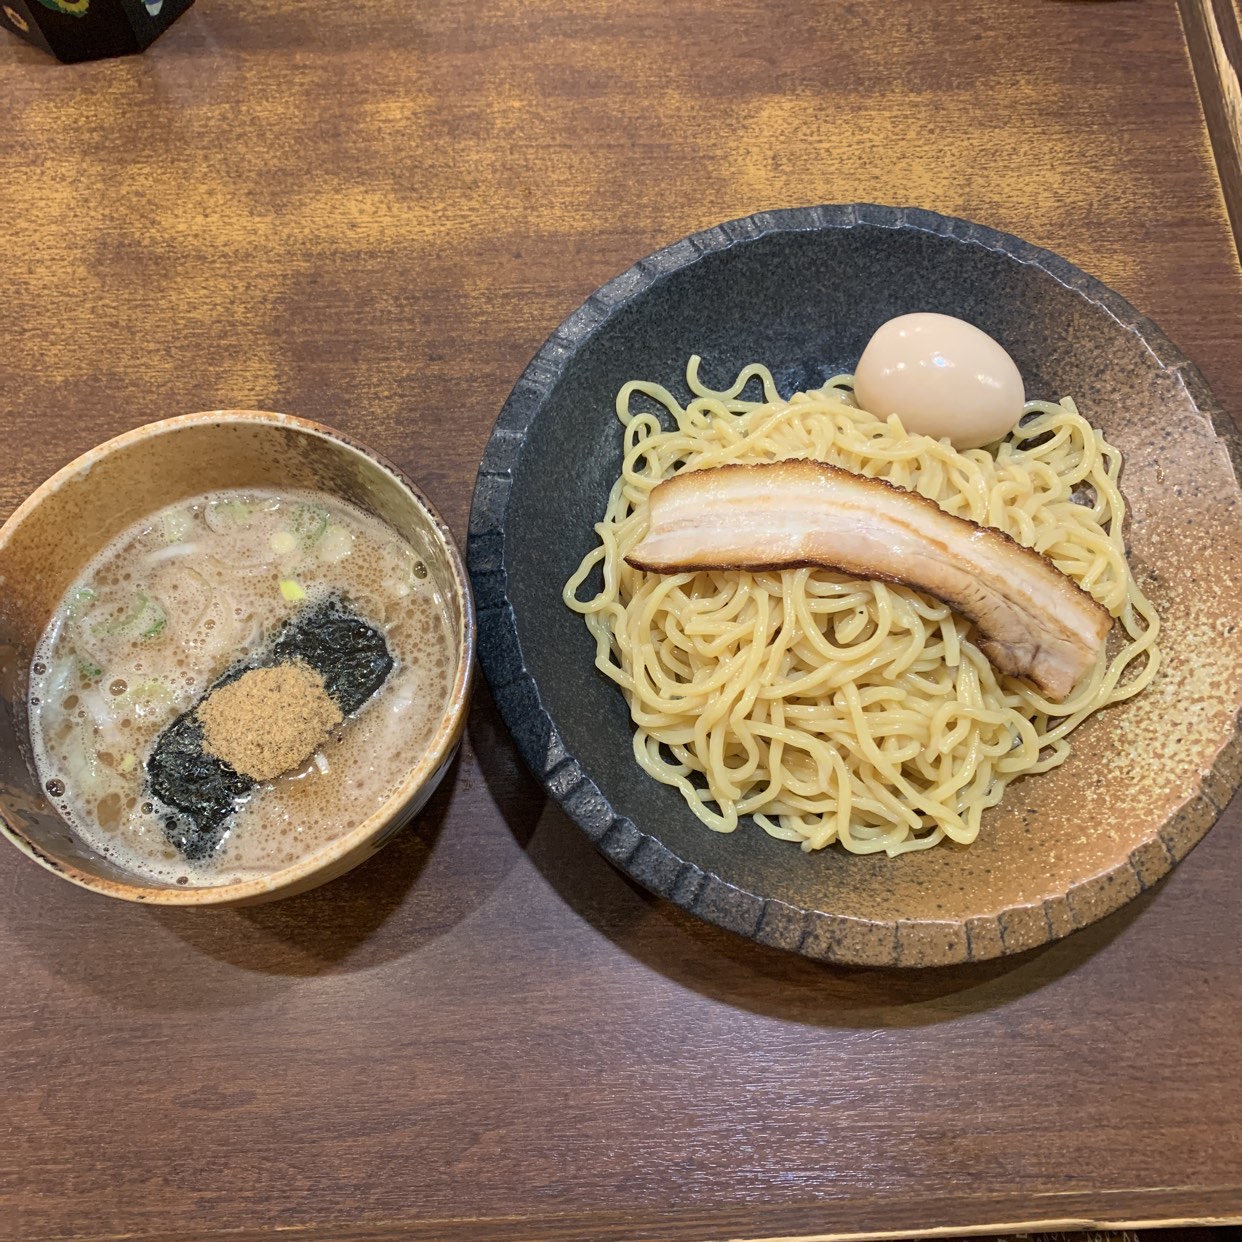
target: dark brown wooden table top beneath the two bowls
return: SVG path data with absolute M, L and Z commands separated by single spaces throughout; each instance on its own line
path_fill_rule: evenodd
M 1184 7 L 1210 94 L 1233 9 Z M 492 420 L 581 298 L 811 202 L 1052 247 L 1242 410 L 1242 274 L 1171 2 L 200 0 L 124 61 L 5 40 L 0 81 L 0 515 L 123 428 L 257 406 L 370 442 L 465 537 Z M 1242 1221 L 1240 811 L 1105 923 L 923 974 L 635 889 L 486 688 L 416 828 L 302 898 L 132 908 L 4 847 L 0 1235 Z

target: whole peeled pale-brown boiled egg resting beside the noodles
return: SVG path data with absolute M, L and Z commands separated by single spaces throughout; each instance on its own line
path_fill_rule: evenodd
M 1022 417 L 1013 359 L 974 324 L 950 314 L 903 314 L 876 329 L 854 370 L 854 397 L 877 419 L 948 437 L 955 448 L 1000 440 Z

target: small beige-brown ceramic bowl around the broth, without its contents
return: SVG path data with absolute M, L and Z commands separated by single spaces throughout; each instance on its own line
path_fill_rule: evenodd
M 45 797 L 26 715 L 30 663 L 57 602 L 111 539 L 166 504 L 237 487 L 314 488 L 388 522 L 441 585 L 457 669 L 427 750 L 376 814 L 296 866 L 258 879 L 158 884 L 96 852 Z M 440 784 L 465 728 L 473 656 L 473 605 L 452 535 L 394 466 L 337 431 L 281 414 L 217 410 L 139 427 L 71 462 L 0 528 L 0 832 L 48 871 L 124 900 L 235 905 L 314 888 L 375 853 Z

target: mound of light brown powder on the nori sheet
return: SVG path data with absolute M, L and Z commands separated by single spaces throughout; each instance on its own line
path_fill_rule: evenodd
M 309 664 L 251 668 L 212 691 L 197 709 L 202 746 L 252 780 L 298 768 L 340 724 L 340 709 Z

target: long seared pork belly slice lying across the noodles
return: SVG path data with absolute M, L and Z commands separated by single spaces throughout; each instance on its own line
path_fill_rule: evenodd
M 635 569 L 794 569 L 904 582 L 974 622 L 1002 673 L 1061 700 L 1113 619 L 1047 556 L 878 478 L 815 461 L 719 466 L 660 483 Z

